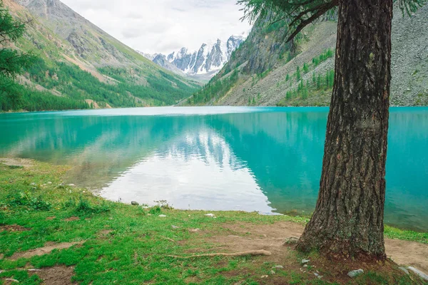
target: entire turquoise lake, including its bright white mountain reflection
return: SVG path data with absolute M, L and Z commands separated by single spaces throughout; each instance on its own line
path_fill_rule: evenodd
M 133 108 L 0 114 L 0 157 L 71 165 L 122 202 L 310 214 L 328 108 Z M 428 231 L 428 108 L 392 108 L 385 222 Z

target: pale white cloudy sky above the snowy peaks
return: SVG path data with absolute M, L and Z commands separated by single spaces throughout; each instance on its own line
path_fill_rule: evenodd
M 62 0 L 128 46 L 170 53 L 250 31 L 236 0 Z

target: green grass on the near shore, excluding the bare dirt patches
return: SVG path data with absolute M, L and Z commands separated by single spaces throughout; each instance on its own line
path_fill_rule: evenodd
M 73 281 L 78 284 L 270 284 L 272 280 L 280 282 L 277 284 L 334 284 L 328 279 L 315 278 L 311 272 L 303 273 L 298 267 L 277 270 L 271 276 L 275 263 L 265 262 L 263 257 L 168 257 L 218 252 L 216 244 L 207 240 L 230 234 L 226 227 L 230 224 L 265 225 L 284 221 L 305 224 L 307 217 L 213 212 L 217 216 L 213 219 L 204 216 L 207 212 L 170 209 L 163 202 L 153 208 L 135 207 L 106 201 L 83 188 L 61 185 L 66 170 L 68 167 L 41 162 L 25 168 L 0 163 L 0 226 L 18 224 L 29 229 L 0 232 L 0 254 L 4 256 L 0 259 L 0 270 L 4 271 L 0 273 L 0 284 L 4 278 L 17 279 L 20 284 L 41 284 L 39 276 L 31 276 L 22 267 L 43 269 L 57 265 L 74 266 Z M 66 222 L 69 217 L 78 219 Z M 200 233 L 188 231 L 196 228 Z M 386 228 L 385 234 L 428 243 L 427 234 L 391 227 Z M 9 259 L 16 252 L 44 247 L 47 242 L 82 241 L 82 245 L 43 256 Z M 296 264 L 303 256 L 290 251 L 290 259 Z M 317 253 L 310 255 L 312 260 L 317 258 Z M 269 277 L 262 279 L 265 275 Z M 388 284 L 384 281 L 392 279 L 411 282 L 407 276 L 370 272 L 356 281 L 365 284 L 367 280 L 379 280 L 379 284 Z

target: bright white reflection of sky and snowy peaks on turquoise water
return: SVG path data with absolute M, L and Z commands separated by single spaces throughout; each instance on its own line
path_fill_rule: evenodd
M 160 145 L 101 195 L 147 204 L 167 199 L 180 209 L 272 212 L 245 162 L 210 128 L 185 132 Z

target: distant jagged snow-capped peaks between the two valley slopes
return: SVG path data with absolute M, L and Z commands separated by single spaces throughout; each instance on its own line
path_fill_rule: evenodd
M 181 48 L 168 56 L 161 53 L 155 55 L 140 53 L 170 71 L 176 72 L 178 69 L 190 76 L 208 74 L 214 76 L 229 61 L 233 51 L 243 43 L 244 39 L 243 36 L 230 36 L 228 41 L 218 39 L 210 45 L 203 43 L 198 51 Z

